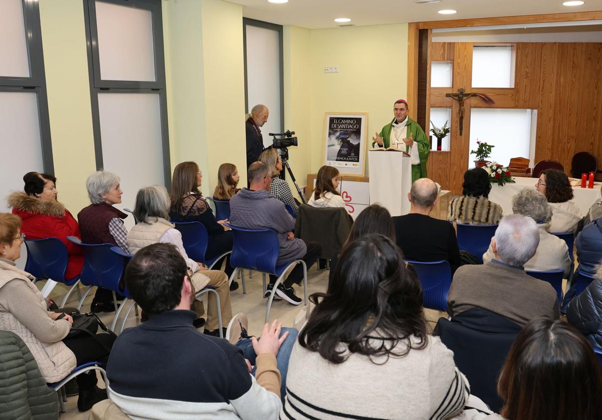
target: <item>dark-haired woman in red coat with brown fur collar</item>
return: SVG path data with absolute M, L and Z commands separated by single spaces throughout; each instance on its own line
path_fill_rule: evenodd
M 60 239 L 69 254 L 65 278 L 79 276 L 84 255 L 78 246 L 67 241 L 67 236 L 81 238 L 79 226 L 69 210 L 57 201 L 57 179 L 45 173 L 29 172 L 23 181 L 25 192 L 12 193 L 7 200 L 13 213 L 23 220 L 21 232 L 27 239 Z

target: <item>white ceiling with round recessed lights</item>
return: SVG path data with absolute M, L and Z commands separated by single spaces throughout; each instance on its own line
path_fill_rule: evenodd
M 602 10 L 602 0 L 585 0 L 585 4 L 577 7 L 563 6 L 564 0 L 442 0 L 435 4 L 416 4 L 414 0 L 289 0 L 285 4 L 267 0 L 229 1 L 244 6 L 244 17 L 308 29 L 334 28 L 335 17 L 350 17 L 350 23 L 364 26 Z M 437 13 L 441 9 L 454 9 L 458 13 L 444 16 Z

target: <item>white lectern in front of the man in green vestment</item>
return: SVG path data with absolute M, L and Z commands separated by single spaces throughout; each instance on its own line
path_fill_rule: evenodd
M 412 162 L 402 152 L 368 150 L 370 204 L 379 203 L 392 216 L 408 214 Z

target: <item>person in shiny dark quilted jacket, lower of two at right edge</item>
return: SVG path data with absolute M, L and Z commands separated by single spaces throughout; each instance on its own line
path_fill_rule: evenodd
M 585 291 L 569 303 L 566 320 L 602 351 L 602 264 L 597 265 L 594 277 Z

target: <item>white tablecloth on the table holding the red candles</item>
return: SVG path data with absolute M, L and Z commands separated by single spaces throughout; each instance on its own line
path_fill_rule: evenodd
M 533 188 L 538 181 L 537 178 L 514 178 L 514 184 L 500 185 L 492 184 L 489 200 L 498 203 L 504 211 L 504 215 L 512 214 L 512 197 L 523 190 L 523 188 Z M 573 203 L 581 209 L 581 214 L 588 214 L 589 208 L 600 198 L 600 182 L 594 184 L 594 188 L 573 187 Z

